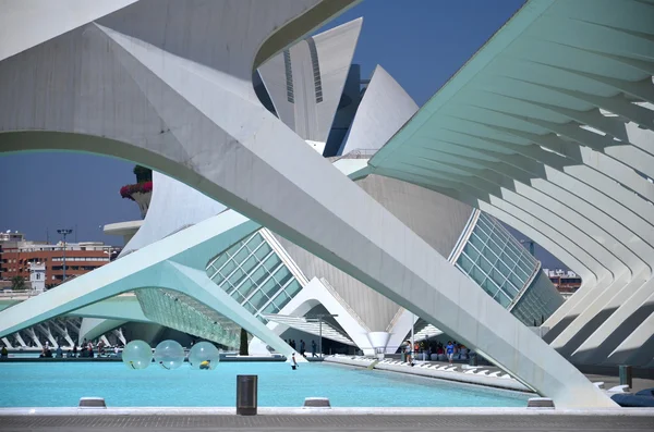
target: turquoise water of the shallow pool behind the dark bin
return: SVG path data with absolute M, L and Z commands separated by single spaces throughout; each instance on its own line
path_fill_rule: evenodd
M 258 375 L 262 407 L 300 407 L 329 397 L 335 407 L 524 407 L 528 395 L 335 365 L 221 362 L 130 370 L 122 362 L 0 363 L 0 407 L 75 407 L 83 396 L 109 407 L 233 407 L 237 374 Z

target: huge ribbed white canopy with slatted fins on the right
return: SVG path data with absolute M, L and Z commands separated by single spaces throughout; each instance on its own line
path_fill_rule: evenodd
M 583 279 L 573 362 L 654 357 L 654 5 L 529 1 L 370 162 L 520 230 Z

